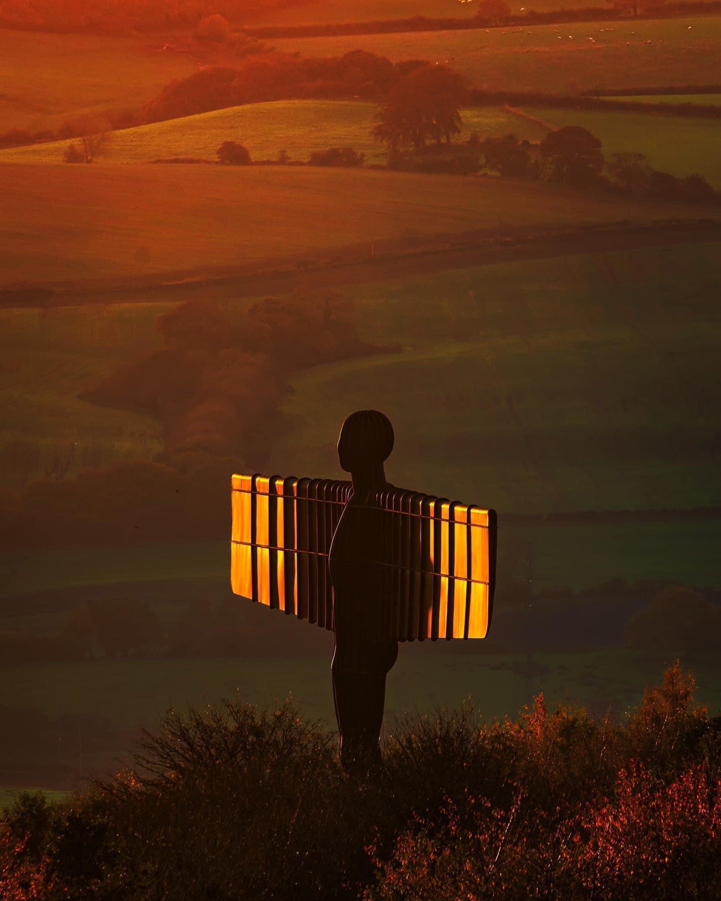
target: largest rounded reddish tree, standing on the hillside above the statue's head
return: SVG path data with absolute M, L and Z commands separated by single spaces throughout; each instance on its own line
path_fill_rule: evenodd
M 447 66 L 422 66 L 401 78 L 375 116 L 374 136 L 389 150 L 424 150 L 461 131 L 464 80 Z

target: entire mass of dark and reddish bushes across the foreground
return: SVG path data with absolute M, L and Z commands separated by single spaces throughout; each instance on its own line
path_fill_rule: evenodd
M 17 901 L 712 901 L 721 718 L 693 689 L 675 664 L 618 723 L 543 696 L 516 722 L 413 714 L 361 781 L 291 704 L 170 711 L 113 780 L 14 805 L 0 886 Z

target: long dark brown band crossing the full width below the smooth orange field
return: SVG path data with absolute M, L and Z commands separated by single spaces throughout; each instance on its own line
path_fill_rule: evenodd
M 329 255 L 268 261 L 198 272 L 161 273 L 122 282 L 63 283 L 55 287 L 0 290 L 2 308 L 182 302 L 239 299 L 296 290 L 340 288 L 359 283 L 417 278 L 446 269 L 472 268 L 524 259 L 607 253 L 672 244 L 721 241 L 721 219 L 626 221 L 553 231 L 538 228 L 490 233 L 463 232 L 409 241 L 379 241 Z

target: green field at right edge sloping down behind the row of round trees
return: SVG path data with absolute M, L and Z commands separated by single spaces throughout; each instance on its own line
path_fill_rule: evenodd
M 554 125 L 587 128 L 603 141 L 607 159 L 627 150 L 644 153 L 653 168 L 676 176 L 698 172 L 721 187 L 721 119 L 545 107 L 527 112 Z

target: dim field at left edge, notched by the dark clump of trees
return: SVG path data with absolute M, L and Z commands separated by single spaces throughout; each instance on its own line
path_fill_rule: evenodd
M 0 487 L 63 478 L 162 448 L 150 416 L 89 405 L 77 394 L 160 343 L 149 304 L 0 310 Z

